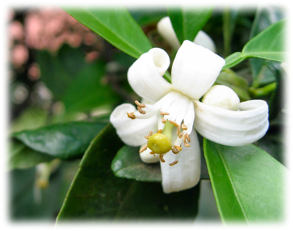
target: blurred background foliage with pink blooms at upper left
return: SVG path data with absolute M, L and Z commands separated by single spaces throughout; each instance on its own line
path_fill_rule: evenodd
M 156 23 L 167 16 L 167 9 L 131 9 L 130 13 L 154 47 L 174 55 L 156 31 Z M 272 17 L 284 18 L 283 9 L 215 9 L 203 30 L 214 40 L 217 53 L 226 57 L 241 51 L 250 38 L 272 23 Z M 60 122 L 94 122 L 101 117 L 106 121 L 115 106 L 133 103 L 138 98 L 126 79 L 135 59 L 64 10 L 11 9 L 8 29 L 10 132 Z M 251 70 L 251 62 L 246 60 L 233 71 L 245 77 L 254 90 L 276 82 L 262 63 L 259 65 L 262 72 L 257 71 L 258 67 Z M 271 93 L 265 98 L 269 99 Z M 256 97 L 255 92 L 250 91 L 248 97 Z M 268 134 L 258 141 L 258 146 L 286 166 L 282 116 L 283 113 L 279 113 L 271 121 Z M 34 155 L 28 149 L 16 140 L 11 142 L 10 217 L 12 220 L 55 221 L 83 153 L 72 160 L 42 154 L 39 160 L 36 156 L 40 153 Z M 20 160 L 20 152 L 32 155 L 34 164 Z M 49 162 L 37 164 L 44 159 Z M 50 171 L 44 174 L 44 169 Z M 209 180 L 202 180 L 201 187 L 197 219 L 219 221 Z

